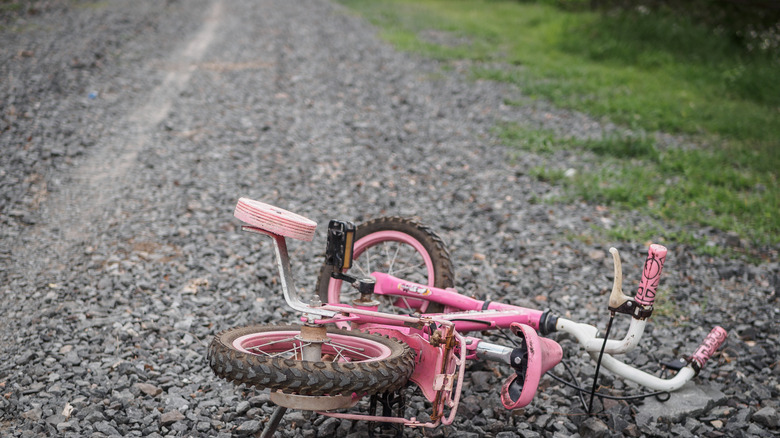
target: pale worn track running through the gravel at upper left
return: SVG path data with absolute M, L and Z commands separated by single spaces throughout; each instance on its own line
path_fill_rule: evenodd
M 12 263 L 17 265 L 14 271 L 25 273 L 28 284 L 38 281 L 40 272 L 62 269 L 63 264 L 72 261 L 74 249 L 92 238 L 96 228 L 101 228 L 101 221 L 121 213 L 112 204 L 120 200 L 122 188 L 133 183 L 138 154 L 151 141 L 151 135 L 167 117 L 214 40 L 223 21 L 223 3 L 215 0 L 203 15 L 198 31 L 183 40 L 164 62 L 151 61 L 167 70 L 160 84 L 149 90 L 123 120 L 117 121 L 120 128 L 114 131 L 116 134 L 95 145 L 93 154 L 72 170 L 70 183 L 59 193 L 50 194 L 41 205 L 45 221 L 13 245 Z M 8 322 L 0 322 L 0 332 L 7 332 Z

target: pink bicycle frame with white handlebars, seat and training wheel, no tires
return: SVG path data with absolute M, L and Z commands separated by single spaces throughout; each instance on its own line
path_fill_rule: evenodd
M 241 201 L 239 207 L 241 207 Z M 310 240 L 308 239 L 309 233 L 313 233 L 313 228 L 308 223 L 301 222 L 301 220 L 307 221 L 305 218 L 292 215 L 296 217 L 290 219 L 289 212 L 265 206 L 265 204 L 263 204 L 263 208 L 269 210 L 259 210 L 259 213 L 256 214 L 251 209 L 247 210 L 246 207 L 244 211 L 240 212 L 241 214 L 238 214 L 239 207 L 236 209 L 236 216 L 251 224 L 251 226 L 243 226 L 245 231 L 272 238 L 285 301 L 291 308 L 303 314 L 301 319 L 304 325 L 311 327 L 307 330 L 313 330 L 319 333 L 316 336 L 324 337 L 326 324 L 349 324 L 364 331 L 396 338 L 408 345 L 416 353 L 415 365 L 409 380 L 420 387 L 423 395 L 433 406 L 430 421 L 426 422 L 418 421 L 416 418 L 406 419 L 320 411 L 324 415 L 401 423 L 406 426 L 435 427 L 440 423 L 450 424 L 455 418 L 460 401 L 467 360 L 493 360 L 510 365 L 517 373 L 510 376 L 502 387 L 502 403 L 508 409 L 525 406 L 533 398 L 541 376 L 562 358 L 561 347 L 553 340 L 540 338 L 537 331 L 543 335 L 554 331 L 569 333 L 594 359 L 600 360 L 605 368 L 615 374 L 648 388 L 673 391 L 698 374 L 726 337 L 726 332 L 722 328 L 713 329 L 705 342 L 689 357 L 689 364 L 670 379 L 652 376 L 612 357 L 612 354 L 625 353 L 636 347 L 643 334 L 646 320 L 652 314 L 658 278 L 666 256 L 666 249 L 659 245 L 652 245 L 648 251 L 639 293 L 634 298 L 623 294 L 620 258 L 616 250 L 610 250 L 615 261 L 615 280 L 608 308 L 613 316 L 616 313 L 625 313 L 632 317 L 625 337 L 620 340 L 605 341 L 598 337 L 598 329 L 595 326 L 557 317 L 549 311 L 478 300 L 461 295 L 452 288 L 442 289 L 417 284 L 381 272 L 371 274 L 372 283 L 375 282 L 373 288 L 369 293 L 363 294 L 361 299 L 353 301 L 353 305 L 323 305 L 318 298 L 306 303 L 300 299 L 293 284 L 285 236 Z M 269 212 L 287 216 L 276 218 Z M 270 223 L 266 216 L 271 218 Z M 278 221 L 278 223 L 274 221 Z M 422 315 L 384 313 L 378 310 L 379 303 L 371 299 L 371 294 L 392 295 L 398 300 L 437 302 L 445 306 L 446 312 Z M 493 344 L 462 334 L 471 331 L 507 328 L 522 339 L 522 354 L 525 362 L 522 362 L 517 356 L 520 348 Z M 304 360 L 316 360 L 312 358 L 319 357 L 319 354 L 316 347 L 302 348 L 301 352 Z M 524 379 L 522 384 L 515 387 L 516 392 L 521 392 L 515 394 L 516 397 L 510 397 L 510 387 L 518 383 L 516 382 L 518 378 Z M 272 393 L 271 398 L 280 406 L 304 409 L 303 406 L 321 406 L 316 402 L 308 404 L 308 401 L 317 397 Z M 344 399 L 349 402 L 349 397 L 330 398 L 339 399 L 339 408 L 345 407 Z M 353 396 L 352 405 L 357 403 L 354 398 Z M 450 409 L 448 415 L 445 415 L 446 408 Z M 313 409 L 323 408 L 315 407 Z

